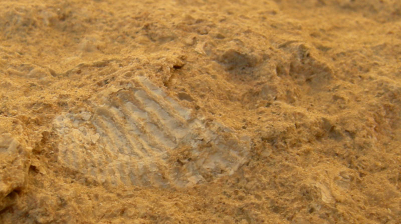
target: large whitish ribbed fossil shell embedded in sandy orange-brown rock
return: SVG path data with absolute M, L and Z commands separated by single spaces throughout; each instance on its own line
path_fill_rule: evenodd
M 58 161 L 79 180 L 184 187 L 230 175 L 247 158 L 248 136 L 193 117 L 146 77 L 89 101 L 91 109 L 54 120 Z

